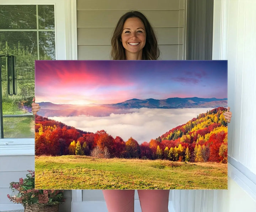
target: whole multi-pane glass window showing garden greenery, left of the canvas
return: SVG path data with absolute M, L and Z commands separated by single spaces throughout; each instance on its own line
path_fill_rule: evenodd
M 34 61 L 55 59 L 54 5 L 1 5 L 0 55 L 4 138 L 33 138 Z M 6 56 L 16 56 L 17 95 L 7 91 Z

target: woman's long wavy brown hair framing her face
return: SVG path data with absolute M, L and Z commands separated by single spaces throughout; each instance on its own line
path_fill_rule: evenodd
M 125 13 L 117 22 L 116 28 L 111 39 L 111 58 L 114 60 L 126 60 L 125 50 L 121 41 L 121 34 L 123 31 L 123 25 L 128 18 L 139 18 L 146 30 L 146 43 L 142 52 L 143 60 L 156 60 L 160 56 L 160 51 L 157 44 L 157 39 L 153 30 L 153 27 L 149 23 L 148 19 L 139 11 L 130 11 Z

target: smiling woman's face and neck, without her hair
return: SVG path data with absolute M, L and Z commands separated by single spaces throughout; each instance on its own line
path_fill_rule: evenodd
M 146 43 L 146 30 L 143 22 L 137 17 L 127 18 L 123 25 L 121 39 L 126 56 L 142 55 Z

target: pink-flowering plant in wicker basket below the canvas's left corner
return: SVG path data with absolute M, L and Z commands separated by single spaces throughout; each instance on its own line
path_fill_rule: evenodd
M 24 212 L 58 212 L 59 204 L 65 201 L 63 190 L 34 189 L 34 171 L 28 172 L 27 178 L 10 183 L 12 196 L 7 194 L 7 197 L 14 203 L 21 203 Z

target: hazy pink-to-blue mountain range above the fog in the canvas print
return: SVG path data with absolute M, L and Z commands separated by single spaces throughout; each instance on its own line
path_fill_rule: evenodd
M 40 102 L 41 106 L 38 115 L 44 117 L 50 116 L 108 116 L 111 113 L 125 114 L 130 109 L 139 108 L 217 108 L 226 107 L 228 100 L 226 98 L 167 98 L 167 99 L 129 99 L 116 104 L 91 104 L 91 105 L 73 105 L 73 104 L 53 104 L 51 102 Z

